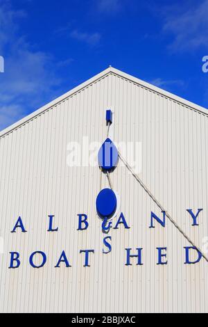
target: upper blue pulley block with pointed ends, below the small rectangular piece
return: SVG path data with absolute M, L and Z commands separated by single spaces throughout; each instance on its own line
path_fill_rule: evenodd
M 103 170 L 113 170 L 119 162 L 119 152 L 110 138 L 106 138 L 98 152 L 98 164 Z

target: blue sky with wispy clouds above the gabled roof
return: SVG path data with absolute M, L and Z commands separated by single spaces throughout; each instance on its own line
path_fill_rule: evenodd
M 208 0 L 0 0 L 0 129 L 109 65 L 208 108 Z

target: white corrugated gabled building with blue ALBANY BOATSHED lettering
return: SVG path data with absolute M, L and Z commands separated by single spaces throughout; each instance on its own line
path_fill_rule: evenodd
M 119 159 L 119 211 L 103 232 L 95 202 L 110 186 L 94 161 L 107 109 L 156 202 Z M 207 118 L 109 67 L 1 131 L 0 312 L 207 312 Z

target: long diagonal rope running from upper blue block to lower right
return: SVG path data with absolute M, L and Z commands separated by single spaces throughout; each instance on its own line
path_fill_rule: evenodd
M 187 241 L 189 241 L 189 243 L 193 246 L 193 248 L 196 248 L 196 250 L 198 250 L 198 252 L 201 253 L 202 257 L 208 262 L 207 256 L 204 253 L 202 253 L 202 251 L 200 250 L 200 248 L 198 246 L 196 246 L 196 244 L 194 244 L 193 241 L 191 241 L 191 239 L 189 239 L 189 237 L 187 236 L 187 234 L 185 234 L 185 232 L 183 232 L 183 230 L 180 228 L 180 226 L 177 225 L 177 223 L 175 223 L 175 221 L 171 217 L 171 215 L 164 209 L 164 207 L 162 207 L 162 205 L 157 201 L 157 199 L 155 198 L 155 196 L 153 196 L 153 194 L 148 190 L 148 188 L 141 181 L 141 179 L 139 178 L 139 176 L 129 166 L 128 162 L 125 161 L 125 159 L 123 159 L 123 157 L 121 156 L 121 153 L 120 152 L 119 152 L 119 158 L 121 159 L 121 161 L 123 161 L 124 165 L 126 166 L 126 168 L 128 168 L 128 170 L 130 171 L 130 173 L 132 173 L 132 175 L 135 177 L 135 179 L 137 180 L 137 182 L 139 182 L 139 184 L 141 185 L 141 187 L 146 191 L 146 193 L 148 193 L 148 195 L 150 196 L 150 198 L 156 203 L 156 205 L 159 207 L 159 209 L 161 209 L 163 212 L 166 213 L 166 216 L 168 217 L 169 221 L 171 221 L 171 223 L 173 223 L 173 225 L 175 226 L 175 228 L 177 228 L 177 230 L 179 230 L 179 232 L 184 236 L 185 239 L 187 239 Z

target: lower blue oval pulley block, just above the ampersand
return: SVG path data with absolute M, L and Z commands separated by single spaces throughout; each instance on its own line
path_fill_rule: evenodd
M 103 189 L 96 198 L 96 210 L 101 218 L 112 218 L 116 212 L 117 199 L 112 189 Z

